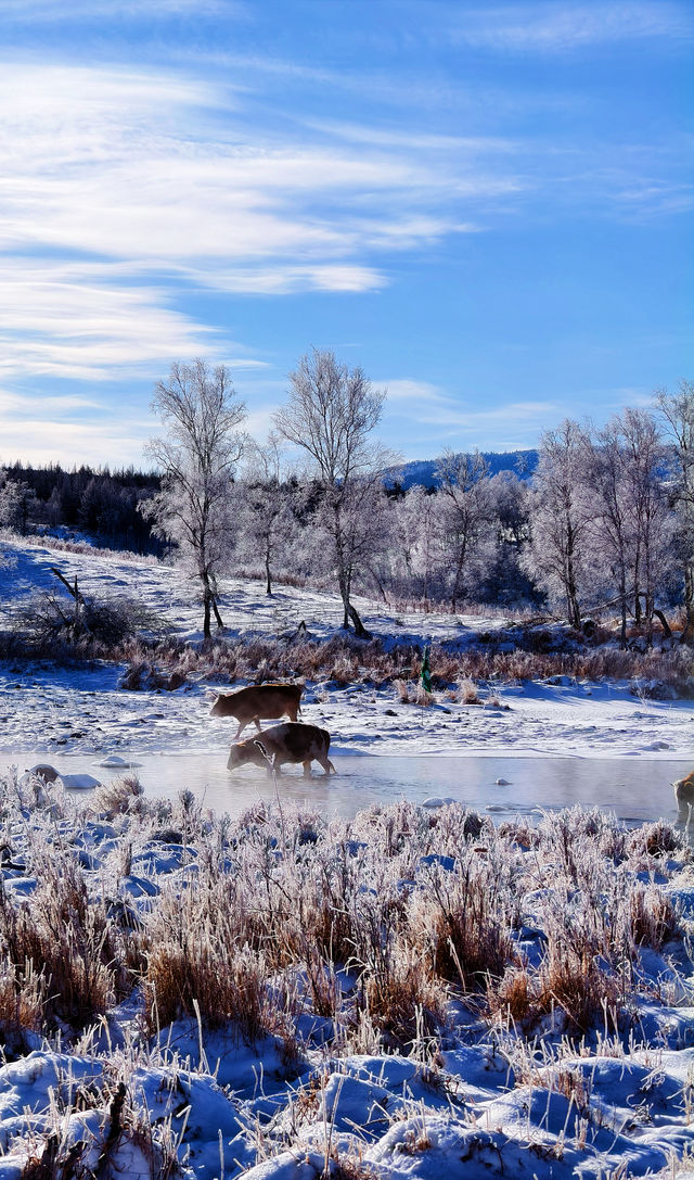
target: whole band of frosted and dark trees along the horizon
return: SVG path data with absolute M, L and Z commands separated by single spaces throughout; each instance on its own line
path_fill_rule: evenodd
M 26 526 L 33 509 L 18 504 L 33 494 L 55 523 L 170 546 L 198 583 L 205 637 L 224 625 L 220 578 L 246 570 L 267 594 L 287 577 L 333 585 L 359 636 L 357 591 L 424 610 L 530 605 L 576 630 L 606 612 L 622 645 L 632 625 L 647 643 L 656 622 L 668 635 L 681 609 L 678 634 L 694 642 L 694 382 L 602 427 L 546 431 L 531 479 L 447 451 L 437 486 L 407 492 L 375 437 L 384 400 L 361 368 L 313 349 L 262 445 L 225 366 L 174 363 L 152 402 L 156 474 L 5 468 L 0 522 Z

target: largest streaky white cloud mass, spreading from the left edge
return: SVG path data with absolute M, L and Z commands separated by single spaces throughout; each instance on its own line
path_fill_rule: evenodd
M 6 65 L 0 372 L 86 380 L 217 355 L 172 287 L 381 290 L 370 256 L 471 231 L 464 185 L 471 199 L 514 186 L 443 166 L 436 143 L 432 168 L 403 139 L 250 135 L 237 103 L 226 84 L 165 71 Z

